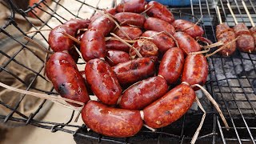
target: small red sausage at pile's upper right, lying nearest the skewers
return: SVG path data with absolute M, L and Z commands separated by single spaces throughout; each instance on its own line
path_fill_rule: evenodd
M 182 30 L 192 38 L 201 37 L 202 34 L 204 34 L 201 26 L 195 25 L 193 22 L 189 22 L 184 19 L 177 19 L 172 23 L 172 25 L 175 30 Z

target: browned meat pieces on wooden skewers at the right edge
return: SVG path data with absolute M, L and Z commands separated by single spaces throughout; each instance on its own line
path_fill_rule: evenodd
M 238 23 L 233 29 L 226 23 L 219 24 L 216 26 L 216 37 L 224 44 L 230 42 L 225 49 L 219 51 L 223 56 L 230 56 L 237 47 L 238 50 L 247 53 L 256 50 L 256 28 L 252 27 L 249 30 L 245 23 Z M 235 38 L 238 38 L 237 41 L 232 42 Z

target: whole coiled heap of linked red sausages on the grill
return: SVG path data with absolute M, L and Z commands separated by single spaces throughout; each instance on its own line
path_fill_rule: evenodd
M 118 39 L 106 41 L 110 32 L 134 42 L 133 47 Z M 78 57 L 70 52 L 74 41 L 63 33 L 80 40 L 85 71 L 78 71 Z M 46 63 L 46 75 L 62 97 L 86 104 L 82 120 L 91 130 L 130 137 L 143 123 L 152 128 L 167 126 L 190 109 L 198 90 L 192 85 L 204 85 L 208 75 L 206 57 L 190 54 L 201 50 L 195 38 L 202 34 L 200 26 L 175 20 L 158 2 L 125 0 L 90 20 L 71 19 L 51 30 L 54 54 Z M 170 85 L 176 86 L 169 90 Z M 88 93 L 99 101 L 90 100 Z

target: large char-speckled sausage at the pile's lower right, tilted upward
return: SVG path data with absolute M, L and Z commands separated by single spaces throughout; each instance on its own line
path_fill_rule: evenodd
M 170 125 L 186 114 L 194 99 L 194 90 L 186 84 L 180 84 L 150 106 L 146 106 L 143 110 L 144 121 L 152 128 Z

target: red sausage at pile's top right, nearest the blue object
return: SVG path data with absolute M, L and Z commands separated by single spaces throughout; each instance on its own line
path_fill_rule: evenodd
M 154 5 L 152 8 L 150 8 L 152 5 Z M 170 12 L 170 10 L 167 9 L 166 6 L 163 6 L 161 3 L 151 1 L 146 5 L 145 9 L 150 8 L 146 12 L 146 14 L 150 17 L 154 18 L 160 18 L 166 22 L 174 22 L 174 15 Z

